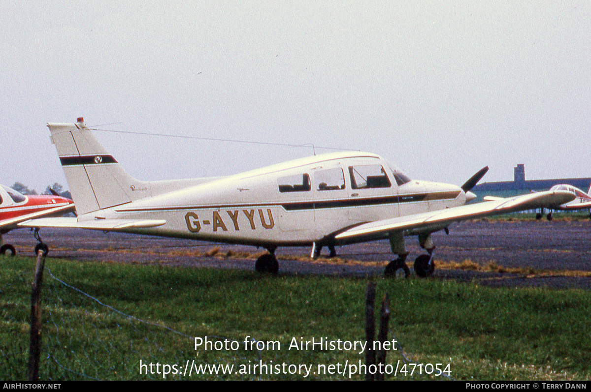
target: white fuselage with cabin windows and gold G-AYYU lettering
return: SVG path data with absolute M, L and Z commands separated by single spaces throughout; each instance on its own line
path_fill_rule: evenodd
M 85 218 L 162 219 L 164 226 L 126 231 L 289 246 L 331 243 L 344 228 L 465 202 L 460 187 L 401 180 L 377 155 L 333 153 L 214 179 Z

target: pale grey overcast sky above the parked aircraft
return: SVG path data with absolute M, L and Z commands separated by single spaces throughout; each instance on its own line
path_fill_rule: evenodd
M 591 177 L 589 1 L 0 3 L 0 183 L 67 187 L 48 122 L 379 153 L 461 185 Z M 142 180 L 309 148 L 96 132 Z

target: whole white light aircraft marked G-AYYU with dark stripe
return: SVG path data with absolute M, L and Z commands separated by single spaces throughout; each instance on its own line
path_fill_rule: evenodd
M 255 269 L 277 273 L 275 249 L 334 247 L 388 239 L 397 259 L 386 275 L 408 276 L 405 236 L 427 254 L 414 270 L 435 268 L 431 233 L 461 220 L 561 205 L 569 191 L 547 191 L 464 205 L 484 168 L 462 187 L 408 178 L 380 156 L 338 152 L 228 177 L 143 182 L 130 177 L 86 127 L 50 123 L 51 137 L 76 202 L 76 218 L 40 218 L 28 227 L 78 227 L 264 247 Z

